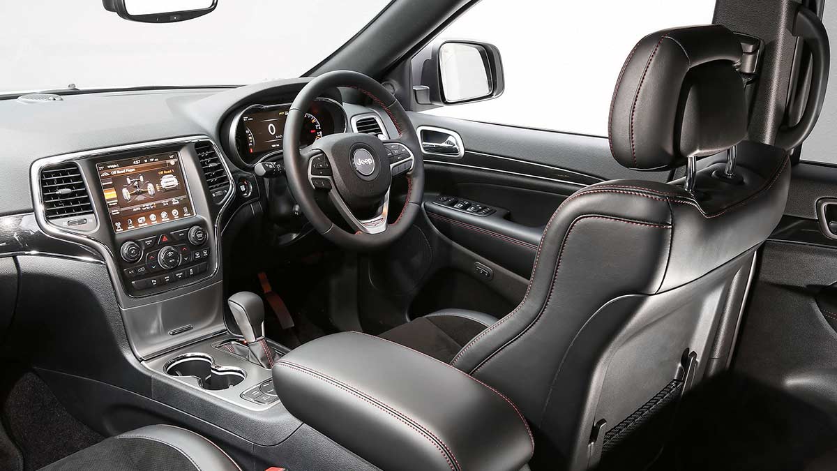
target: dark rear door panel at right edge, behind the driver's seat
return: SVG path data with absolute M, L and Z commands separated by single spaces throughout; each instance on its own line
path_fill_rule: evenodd
M 734 369 L 837 420 L 837 241 L 824 235 L 816 210 L 833 197 L 837 169 L 793 168 L 786 215 L 761 251 Z

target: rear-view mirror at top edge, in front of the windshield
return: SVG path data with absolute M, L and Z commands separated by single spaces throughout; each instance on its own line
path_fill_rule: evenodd
M 105 10 L 141 23 L 176 23 L 212 13 L 218 0 L 102 0 Z

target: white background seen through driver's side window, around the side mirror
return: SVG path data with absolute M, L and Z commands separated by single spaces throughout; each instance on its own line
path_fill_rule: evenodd
M 439 39 L 497 46 L 506 91 L 425 112 L 605 136 L 616 78 L 634 44 L 659 29 L 711 23 L 714 8 L 715 0 L 482 0 Z

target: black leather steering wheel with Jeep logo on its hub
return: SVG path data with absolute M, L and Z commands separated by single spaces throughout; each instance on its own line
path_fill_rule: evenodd
M 398 137 L 382 141 L 371 134 L 342 132 L 321 137 L 300 150 L 306 112 L 317 96 L 336 86 L 355 88 L 381 106 L 393 120 Z M 398 240 L 419 215 L 424 194 L 419 136 L 398 100 L 367 75 L 335 70 L 311 80 L 290 106 L 282 146 L 291 193 L 311 225 L 337 246 L 353 251 L 383 248 Z M 402 174 L 408 180 L 407 202 L 390 224 L 393 177 Z M 320 209 L 317 191 L 328 192 L 353 233 L 336 225 Z

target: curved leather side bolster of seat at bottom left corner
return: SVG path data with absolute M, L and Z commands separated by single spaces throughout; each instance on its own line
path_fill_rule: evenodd
M 241 471 L 239 465 L 229 458 L 215 443 L 195 432 L 171 425 L 150 425 L 117 435 L 116 439 L 140 438 L 162 443 L 176 449 L 200 470 Z

